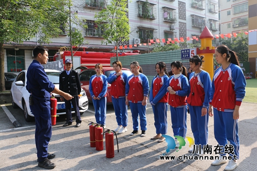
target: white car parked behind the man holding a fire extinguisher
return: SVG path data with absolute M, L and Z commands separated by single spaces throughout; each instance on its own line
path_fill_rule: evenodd
M 48 79 L 57 87 L 59 88 L 59 75 L 60 71 L 53 70 L 53 69 L 45 69 L 45 72 L 48 76 Z M 12 97 L 12 107 L 18 108 L 20 107 L 24 111 L 24 118 L 27 122 L 34 120 L 34 115 L 30 111 L 29 107 L 29 92 L 26 89 L 27 84 L 27 70 L 21 71 L 15 81 L 12 83 L 11 87 L 11 97 Z M 53 93 L 54 94 L 54 93 Z M 80 109 L 80 115 L 84 113 L 88 109 L 88 99 L 86 96 L 86 92 L 81 89 L 82 96 L 79 99 L 79 109 Z M 58 97 L 58 94 L 54 94 L 54 96 L 57 96 L 57 115 L 64 115 L 65 112 L 65 103 L 60 100 L 60 97 Z M 72 113 L 75 113 L 74 108 L 71 109 Z

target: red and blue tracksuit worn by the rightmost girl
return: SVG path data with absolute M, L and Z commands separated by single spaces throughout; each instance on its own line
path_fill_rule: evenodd
M 235 105 L 240 106 L 245 97 L 245 86 L 246 81 L 242 69 L 231 63 L 225 70 L 219 67 L 215 71 L 210 96 L 210 104 L 213 106 L 215 139 L 222 146 L 229 141 L 234 146 L 237 159 L 240 145 L 237 120 L 233 119 L 233 111 Z

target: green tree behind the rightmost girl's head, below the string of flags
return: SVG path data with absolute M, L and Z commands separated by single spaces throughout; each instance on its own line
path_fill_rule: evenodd
M 227 40 L 219 38 L 219 42 L 228 46 L 230 50 L 236 52 L 238 61 L 248 61 L 248 35 L 245 35 L 245 33 L 238 33 L 236 37 L 232 37 Z

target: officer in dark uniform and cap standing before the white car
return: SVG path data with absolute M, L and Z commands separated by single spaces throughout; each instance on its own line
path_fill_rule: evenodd
M 70 59 L 65 60 L 65 70 L 60 73 L 59 88 L 60 90 L 67 92 L 74 96 L 71 100 L 64 100 L 65 110 L 66 110 L 66 123 L 63 126 L 72 125 L 72 114 L 71 114 L 71 104 L 75 110 L 76 114 L 76 127 L 80 127 L 81 118 L 79 111 L 79 97 L 81 86 L 79 73 L 76 70 L 72 70 L 72 61 Z M 63 98 L 61 98 L 63 101 Z

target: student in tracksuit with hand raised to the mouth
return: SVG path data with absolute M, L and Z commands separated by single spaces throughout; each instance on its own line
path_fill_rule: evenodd
M 118 123 L 118 127 L 114 131 L 123 134 L 127 131 L 127 105 L 125 98 L 127 75 L 122 73 L 122 64 L 120 61 L 114 61 L 113 68 L 115 72 L 109 75 L 107 82 L 112 85 L 110 93 Z

